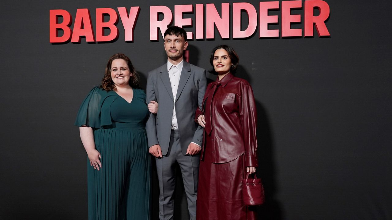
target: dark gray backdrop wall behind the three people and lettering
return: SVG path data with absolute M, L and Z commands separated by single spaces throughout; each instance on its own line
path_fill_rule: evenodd
M 0 219 L 87 219 L 86 154 L 73 122 L 107 59 L 127 54 L 145 88 L 148 71 L 166 61 L 162 39 L 149 41 L 149 6 L 174 11 L 174 5 L 215 3 L 219 11 L 222 2 L 2 2 Z M 258 2 L 247 2 L 258 10 Z M 238 76 L 254 88 L 257 173 L 266 190 L 260 219 L 392 219 L 392 4 L 326 2 L 330 38 L 259 39 L 256 32 L 222 40 L 216 32 L 215 40 L 190 41 L 190 62 L 206 69 L 215 45 L 234 47 Z M 88 8 L 95 27 L 96 8 L 131 6 L 141 8 L 133 43 L 124 41 L 121 21 L 113 43 L 49 43 L 50 9 L 75 18 L 76 9 Z M 270 14 L 281 21 L 280 10 Z

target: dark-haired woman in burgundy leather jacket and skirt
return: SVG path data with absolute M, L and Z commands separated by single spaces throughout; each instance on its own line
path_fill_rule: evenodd
M 256 105 L 249 82 L 234 77 L 238 55 L 219 45 L 211 52 L 212 72 L 195 118 L 204 127 L 197 197 L 198 220 L 254 220 L 243 206 L 241 180 L 256 172 Z

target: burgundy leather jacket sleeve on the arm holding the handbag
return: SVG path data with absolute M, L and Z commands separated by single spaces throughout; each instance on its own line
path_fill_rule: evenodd
M 256 104 L 249 84 L 243 84 L 241 88 L 240 120 L 245 145 L 245 166 L 257 167 Z

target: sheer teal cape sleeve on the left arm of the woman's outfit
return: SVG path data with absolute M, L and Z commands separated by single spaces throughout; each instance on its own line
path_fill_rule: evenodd
M 85 125 L 96 129 L 112 125 L 110 109 L 102 108 L 103 100 L 108 97 L 105 93 L 107 92 L 98 86 L 91 89 L 79 108 L 74 125 L 78 127 Z

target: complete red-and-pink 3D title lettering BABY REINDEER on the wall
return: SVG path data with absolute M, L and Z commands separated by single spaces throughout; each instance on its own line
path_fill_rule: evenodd
M 216 31 L 222 39 L 249 38 L 256 33 L 257 28 L 259 28 L 258 35 L 261 39 L 313 37 L 314 27 L 316 27 L 319 37 L 330 36 L 325 24 L 329 18 L 330 9 L 327 2 L 323 0 L 259 2 L 256 7 L 247 2 L 232 3 L 231 7 L 230 3 L 222 3 L 218 9 L 216 6 L 218 5 L 174 5 L 174 14 L 167 6 L 150 6 L 150 40 L 158 41 L 159 35 L 163 36 L 169 25 L 184 27 L 188 31 L 187 39 L 215 39 Z M 301 14 L 292 14 L 293 9 L 303 9 L 303 17 Z M 318 15 L 314 15 L 315 9 L 319 12 Z M 269 14 L 270 11 L 278 10 L 281 13 L 281 21 L 278 20 L 278 15 Z M 117 11 L 111 8 L 97 8 L 95 23 L 93 23 L 89 9 L 77 9 L 71 29 L 73 19 L 68 11 L 50 10 L 49 41 L 50 43 L 67 43 L 69 41 L 80 43 L 82 37 L 86 42 L 114 41 L 119 37 L 118 17 L 123 24 L 124 40 L 133 41 L 139 13 L 140 7 L 131 7 L 129 13 L 125 7 L 118 7 Z M 188 16 L 191 14 L 193 17 L 184 18 L 184 14 L 188 14 Z M 231 25 L 230 14 L 232 16 Z M 247 16 L 248 21 L 245 25 L 242 24 L 244 16 Z M 62 18 L 61 21 L 59 18 Z M 241 28 L 241 24 L 244 27 Z M 297 28 L 292 28 L 292 24 L 297 24 Z M 302 24 L 303 30 L 298 28 L 301 27 L 298 24 Z M 278 29 L 269 29 L 269 25 L 276 25 Z M 96 32 L 94 32 L 94 27 Z M 109 29 L 110 34 L 105 35 L 105 29 Z

